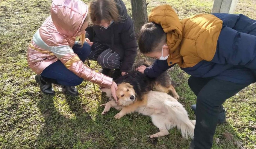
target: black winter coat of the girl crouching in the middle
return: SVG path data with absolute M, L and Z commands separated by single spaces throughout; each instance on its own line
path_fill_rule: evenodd
M 127 14 L 125 4 L 122 0 L 115 0 L 122 16 L 120 22 L 113 22 L 107 29 L 93 25 L 87 27 L 86 37 L 93 42 L 99 42 L 108 46 L 112 51 L 117 52 L 121 57 L 121 72 L 128 72 L 137 55 L 137 41 L 135 38 L 134 24 L 131 17 Z M 92 50 L 94 50 L 92 46 Z

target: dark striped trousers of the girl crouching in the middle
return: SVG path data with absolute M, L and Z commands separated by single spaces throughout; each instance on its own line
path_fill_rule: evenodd
M 93 43 L 92 51 L 88 59 L 98 61 L 102 68 L 120 69 L 121 67 L 121 58 L 119 54 L 112 52 L 110 48 L 99 42 Z

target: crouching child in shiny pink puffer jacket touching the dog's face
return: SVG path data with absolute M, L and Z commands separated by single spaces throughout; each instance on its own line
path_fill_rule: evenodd
M 34 34 L 28 47 L 28 66 L 37 74 L 35 80 L 45 94 L 55 94 L 51 83 L 66 88 L 77 96 L 75 86 L 88 80 L 110 88 L 117 88 L 112 78 L 84 65 L 90 46 L 84 43 L 88 26 L 88 6 L 80 0 L 53 0 L 51 15 Z M 75 41 L 80 36 L 81 42 Z

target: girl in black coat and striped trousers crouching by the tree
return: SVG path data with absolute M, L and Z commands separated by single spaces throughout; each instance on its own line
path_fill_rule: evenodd
M 137 55 L 134 24 L 122 0 L 92 0 L 90 16 L 93 23 L 86 29 L 91 46 L 90 60 L 97 60 L 104 75 L 115 69 L 113 79 L 125 75 Z

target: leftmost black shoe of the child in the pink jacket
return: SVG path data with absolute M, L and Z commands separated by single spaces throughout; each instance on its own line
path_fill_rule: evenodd
M 42 79 L 41 75 L 36 75 L 35 80 L 37 83 L 39 83 L 40 90 L 47 95 L 54 95 L 55 91 L 51 86 L 51 83 L 46 82 Z

